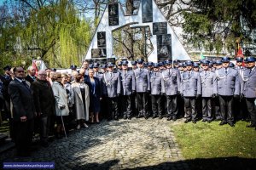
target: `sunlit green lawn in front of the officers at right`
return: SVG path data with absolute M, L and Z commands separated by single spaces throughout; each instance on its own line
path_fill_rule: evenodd
M 256 131 L 247 122 L 236 127 L 219 122 L 175 123 L 171 126 L 185 159 L 241 157 L 256 158 Z

